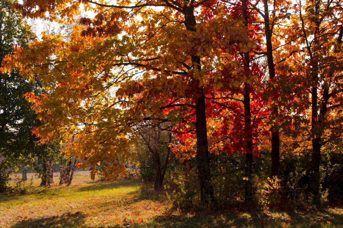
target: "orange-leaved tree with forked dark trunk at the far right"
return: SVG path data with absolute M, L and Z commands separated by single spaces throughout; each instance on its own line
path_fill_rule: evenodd
M 341 132 L 340 118 L 333 117 L 341 109 L 341 7 L 335 1 L 297 1 L 286 10 L 284 22 L 291 27 L 280 27 L 275 35 L 283 37 L 283 49 L 290 55 L 287 59 L 277 56 L 284 63 L 276 70 L 294 83 L 289 96 L 293 107 L 286 108 L 292 112 L 291 124 L 299 133 L 303 132 L 301 126 L 309 129 L 303 137 L 311 145 L 310 189 L 318 204 L 321 150 L 333 138 L 340 140 L 331 128 Z M 301 126 L 297 119 L 303 121 Z

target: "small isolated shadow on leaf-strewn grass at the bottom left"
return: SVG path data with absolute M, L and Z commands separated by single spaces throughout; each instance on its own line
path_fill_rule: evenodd
M 83 213 L 76 212 L 74 214 L 64 213 L 60 216 L 44 217 L 37 219 L 25 219 L 17 222 L 11 228 L 76 228 L 83 227 L 85 216 Z

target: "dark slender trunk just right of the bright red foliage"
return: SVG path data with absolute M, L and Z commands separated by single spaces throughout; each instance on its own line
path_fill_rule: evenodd
M 264 5 L 264 33 L 266 39 L 266 46 L 267 46 L 267 63 L 268 63 L 268 72 L 269 72 L 269 79 L 272 80 L 275 78 L 275 65 L 274 65 L 274 58 L 273 58 L 273 46 L 272 46 L 272 29 L 270 28 L 269 23 L 269 9 L 268 9 L 268 0 L 263 0 Z M 273 118 L 276 118 L 278 115 L 278 108 L 275 104 L 272 107 Z M 276 124 L 272 124 L 271 126 L 271 144 L 272 144 L 272 151 L 270 153 L 270 157 L 272 160 L 272 167 L 271 167 L 271 176 L 279 176 L 280 170 L 280 135 L 279 130 L 276 128 Z

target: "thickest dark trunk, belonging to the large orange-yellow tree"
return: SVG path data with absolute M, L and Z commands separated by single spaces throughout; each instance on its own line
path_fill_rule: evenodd
M 196 31 L 196 19 L 194 16 L 194 6 L 185 4 L 182 8 L 185 15 L 185 26 L 189 31 Z M 194 50 L 193 50 L 194 51 Z M 198 55 L 193 54 L 191 56 L 192 63 L 195 65 L 197 70 L 201 71 L 201 62 Z M 198 84 L 199 85 L 199 84 Z M 205 95 L 202 86 L 198 89 L 196 95 L 196 133 L 197 133 L 197 169 L 198 177 L 200 182 L 200 201 L 202 203 L 214 202 L 214 192 L 211 181 L 211 170 L 210 170 L 210 156 L 207 140 L 207 126 L 206 126 L 206 106 L 205 106 Z

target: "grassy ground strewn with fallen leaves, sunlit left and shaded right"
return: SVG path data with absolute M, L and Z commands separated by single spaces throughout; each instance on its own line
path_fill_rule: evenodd
M 34 175 L 28 177 L 39 184 Z M 138 180 L 92 181 L 87 172 L 77 172 L 68 187 L 37 187 L 33 193 L 0 196 L 0 227 L 343 228 L 343 209 L 180 211 L 171 209 L 165 192 L 142 191 Z

